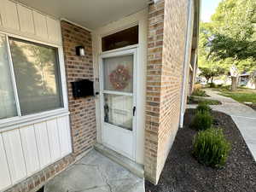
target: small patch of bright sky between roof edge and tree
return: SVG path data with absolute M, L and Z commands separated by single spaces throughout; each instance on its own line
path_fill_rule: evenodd
M 201 20 L 209 22 L 215 9 L 218 7 L 218 3 L 221 1 L 222 0 L 201 0 Z

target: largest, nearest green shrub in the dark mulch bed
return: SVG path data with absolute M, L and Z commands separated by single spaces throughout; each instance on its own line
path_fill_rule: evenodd
M 204 165 L 224 166 L 230 152 L 230 143 L 224 138 L 222 129 L 211 128 L 199 131 L 193 141 L 193 155 Z

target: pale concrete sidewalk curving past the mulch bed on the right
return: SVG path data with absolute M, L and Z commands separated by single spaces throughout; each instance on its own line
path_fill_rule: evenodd
M 256 111 L 253 108 L 236 102 L 230 97 L 219 96 L 216 90 L 206 90 L 208 99 L 218 100 L 222 105 L 212 105 L 211 108 L 216 111 L 227 113 L 236 123 L 242 137 L 247 143 L 247 147 L 256 160 Z M 188 105 L 187 108 L 195 108 L 196 105 Z

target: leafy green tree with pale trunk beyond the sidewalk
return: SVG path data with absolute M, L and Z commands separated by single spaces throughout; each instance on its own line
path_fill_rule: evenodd
M 212 22 L 204 25 L 207 60 L 218 61 L 225 70 L 232 66 L 236 74 L 252 71 L 256 65 L 256 1 L 224 0 L 219 3 Z M 207 27 L 206 27 L 207 26 Z M 232 77 L 236 89 L 237 76 Z

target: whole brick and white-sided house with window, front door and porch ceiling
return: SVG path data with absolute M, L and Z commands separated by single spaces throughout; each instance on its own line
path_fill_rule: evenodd
M 158 183 L 195 82 L 199 12 L 200 0 L 0 0 L 0 191 L 36 191 L 95 146 Z

